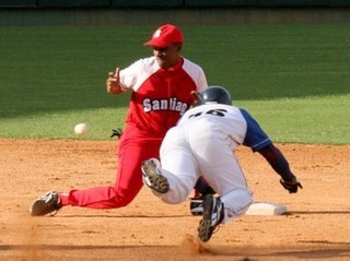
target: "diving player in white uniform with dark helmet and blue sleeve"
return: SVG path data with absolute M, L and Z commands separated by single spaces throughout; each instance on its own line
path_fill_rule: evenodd
M 186 111 L 166 133 L 161 146 L 162 164 L 151 158 L 142 164 L 142 171 L 144 183 L 170 204 L 185 201 L 200 176 L 207 180 L 219 194 L 202 199 L 198 236 L 208 241 L 219 224 L 243 215 L 253 202 L 232 153 L 241 144 L 259 152 L 289 192 L 295 193 L 302 186 L 258 122 L 246 110 L 232 106 L 225 88 L 209 86 L 199 98 L 200 106 Z

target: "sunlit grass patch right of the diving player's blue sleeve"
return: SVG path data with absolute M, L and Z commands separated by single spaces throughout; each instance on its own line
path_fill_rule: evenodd
M 349 144 L 349 100 L 343 95 L 235 104 L 247 108 L 276 142 Z

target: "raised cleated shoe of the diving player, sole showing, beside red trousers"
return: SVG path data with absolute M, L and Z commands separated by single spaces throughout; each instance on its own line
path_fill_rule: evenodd
M 161 163 L 150 158 L 142 163 L 143 183 L 159 193 L 166 193 L 170 189 L 167 179 L 162 175 Z

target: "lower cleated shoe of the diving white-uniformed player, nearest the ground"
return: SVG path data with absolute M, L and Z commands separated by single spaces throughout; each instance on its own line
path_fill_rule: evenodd
M 203 198 L 203 216 L 197 229 L 199 239 L 203 242 L 208 241 L 223 217 L 224 207 L 220 198 L 206 194 Z

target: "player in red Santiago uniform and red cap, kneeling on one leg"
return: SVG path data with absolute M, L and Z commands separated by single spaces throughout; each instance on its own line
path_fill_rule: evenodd
M 166 131 L 194 103 L 191 92 L 207 87 L 203 70 L 180 55 L 183 43 L 180 29 L 165 24 L 144 44 L 153 47 L 153 57 L 108 74 L 108 93 L 132 92 L 118 143 L 119 165 L 114 187 L 73 189 L 68 193 L 49 191 L 33 202 L 31 215 L 52 214 L 65 205 L 121 207 L 135 199 L 143 185 L 141 163 L 150 157 L 159 158 Z

